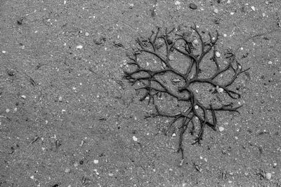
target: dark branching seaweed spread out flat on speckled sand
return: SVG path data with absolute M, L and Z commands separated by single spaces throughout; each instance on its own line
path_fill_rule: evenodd
M 222 68 L 216 57 L 216 42 L 218 41 L 218 32 L 216 31 L 215 36 L 212 36 L 212 34 L 209 32 L 209 41 L 204 41 L 203 36 L 200 34 L 200 31 L 197 29 L 196 25 L 192 25 L 191 29 L 195 32 L 200 40 L 201 48 L 199 54 L 195 52 L 196 48 L 193 46 L 192 42 L 187 39 L 185 34 L 173 35 L 175 29 L 171 29 L 170 31 L 166 29 L 164 34 L 160 34 L 161 29 L 157 28 L 157 31 L 152 31 L 152 34 L 148 38 L 136 39 L 138 48 L 131 56 L 129 56 L 131 61 L 128 63 L 136 68 L 133 69 L 133 71 L 124 71 L 124 78 L 128 80 L 129 83 L 132 85 L 141 83 L 143 85 L 142 87 L 136 88 L 136 90 L 144 90 L 145 92 L 140 100 L 143 101 L 148 98 L 148 104 L 152 103 L 155 106 L 155 113 L 151 113 L 150 116 L 147 116 L 147 118 L 155 118 L 159 116 L 171 118 L 171 122 L 169 123 L 170 126 L 181 120 L 181 126 L 179 127 L 180 134 L 178 152 L 181 152 L 182 158 L 183 134 L 188 129 L 189 124 L 192 125 L 193 133 L 193 130 L 195 130 L 195 118 L 199 121 L 200 131 L 198 132 L 193 144 L 200 144 L 206 125 L 211 127 L 213 130 L 216 130 L 216 116 L 218 111 L 234 111 L 239 113 L 238 109 L 242 107 L 242 105 L 233 106 L 232 103 L 223 104 L 222 106 L 212 106 L 212 104 L 206 106 L 197 99 L 195 92 L 190 88 L 190 85 L 194 83 L 207 83 L 214 88 L 223 89 L 223 92 L 226 92 L 231 99 L 238 99 L 241 97 L 240 93 L 235 90 L 231 90 L 229 86 L 234 83 L 240 74 L 249 70 L 242 70 L 242 66 L 239 62 L 237 62 L 237 60 L 228 62 L 226 67 Z M 172 36 L 174 36 L 174 38 L 172 38 Z M 175 50 L 190 60 L 184 72 L 179 71 L 171 65 L 170 56 Z M 138 56 L 145 53 L 156 57 L 157 60 L 162 63 L 162 67 L 159 69 L 154 68 L 152 70 L 151 68 L 145 67 L 143 64 L 141 64 L 141 62 L 139 62 Z M 200 76 L 200 65 L 208 53 L 212 54 L 211 61 L 214 62 L 216 71 L 211 76 L 202 78 L 202 76 Z M 218 83 L 216 78 L 226 71 L 232 72 L 230 80 L 228 80 L 226 83 Z M 166 73 L 171 73 L 175 76 L 178 76 L 181 78 L 181 80 L 183 80 L 184 84 L 182 86 L 178 86 L 177 90 L 172 90 L 159 78 L 164 76 Z M 177 114 L 164 113 L 159 109 L 159 106 L 157 106 L 155 102 L 158 96 L 162 93 L 166 93 L 178 101 L 186 102 L 188 104 L 187 109 Z M 200 113 L 199 110 L 202 112 Z M 211 119 L 209 119 L 208 116 L 211 116 Z

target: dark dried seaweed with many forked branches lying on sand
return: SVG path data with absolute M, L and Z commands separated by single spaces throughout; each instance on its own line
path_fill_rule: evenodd
M 188 129 L 188 125 L 192 125 L 191 134 L 195 131 L 196 124 L 200 126 L 193 143 L 200 144 L 206 126 L 216 130 L 218 112 L 239 113 L 238 109 L 242 106 L 233 106 L 233 102 L 220 106 L 211 103 L 205 104 L 198 97 L 192 85 L 207 84 L 213 88 L 213 93 L 223 92 L 230 99 L 238 99 L 241 96 L 240 93 L 230 88 L 230 85 L 235 82 L 237 76 L 248 70 L 242 70 L 241 64 L 237 62 L 235 54 L 231 51 L 227 53 L 225 65 L 221 64 L 216 50 L 217 31 L 213 36 L 210 32 L 201 34 L 196 25 L 192 25 L 191 29 L 193 36 L 198 39 L 197 45 L 194 40 L 190 39 L 191 36 L 187 36 L 185 32 L 177 34 L 175 29 L 165 29 L 161 34 L 162 29 L 157 28 L 157 31 L 152 31 L 148 38 L 136 39 L 138 47 L 129 55 L 129 69 L 124 71 L 124 78 L 132 85 L 137 83 L 139 86 L 136 90 L 144 92 L 140 100 L 148 99 L 148 104 L 155 106 L 155 113 L 150 113 L 147 118 L 170 118 L 170 127 L 180 121 L 178 152 L 181 152 L 182 158 L 183 134 Z M 205 36 L 207 36 L 207 40 L 204 39 Z M 210 59 L 208 59 L 208 54 Z M 185 58 L 184 68 L 177 68 L 180 62 L 177 62 L 178 59 L 174 56 Z M 214 68 L 211 74 L 206 75 L 206 72 L 202 71 L 202 67 L 208 63 Z M 228 74 L 228 79 L 221 83 L 218 78 L 223 74 Z M 174 78 L 167 81 L 171 77 Z M 172 88 L 173 85 L 176 86 L 176 89 Z M 168 95 L 177 102 L 185 103 L 185 109 L 178 113 L 174 113 L 171 109 L 166 109 L 168 112 L 164 111 L 157 102 L 157 99 L 162 99 L 162 95 Z

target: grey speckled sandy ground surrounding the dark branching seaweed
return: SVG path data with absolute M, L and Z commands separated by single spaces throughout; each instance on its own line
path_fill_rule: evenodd
M 190 8 L 195 3 L 197 9 Z M 0 1 L 0 186 L 281 186 L 281 2 Z M 157 27 L 219 33 L 248 74 L 202 145 L 124 76 Z

